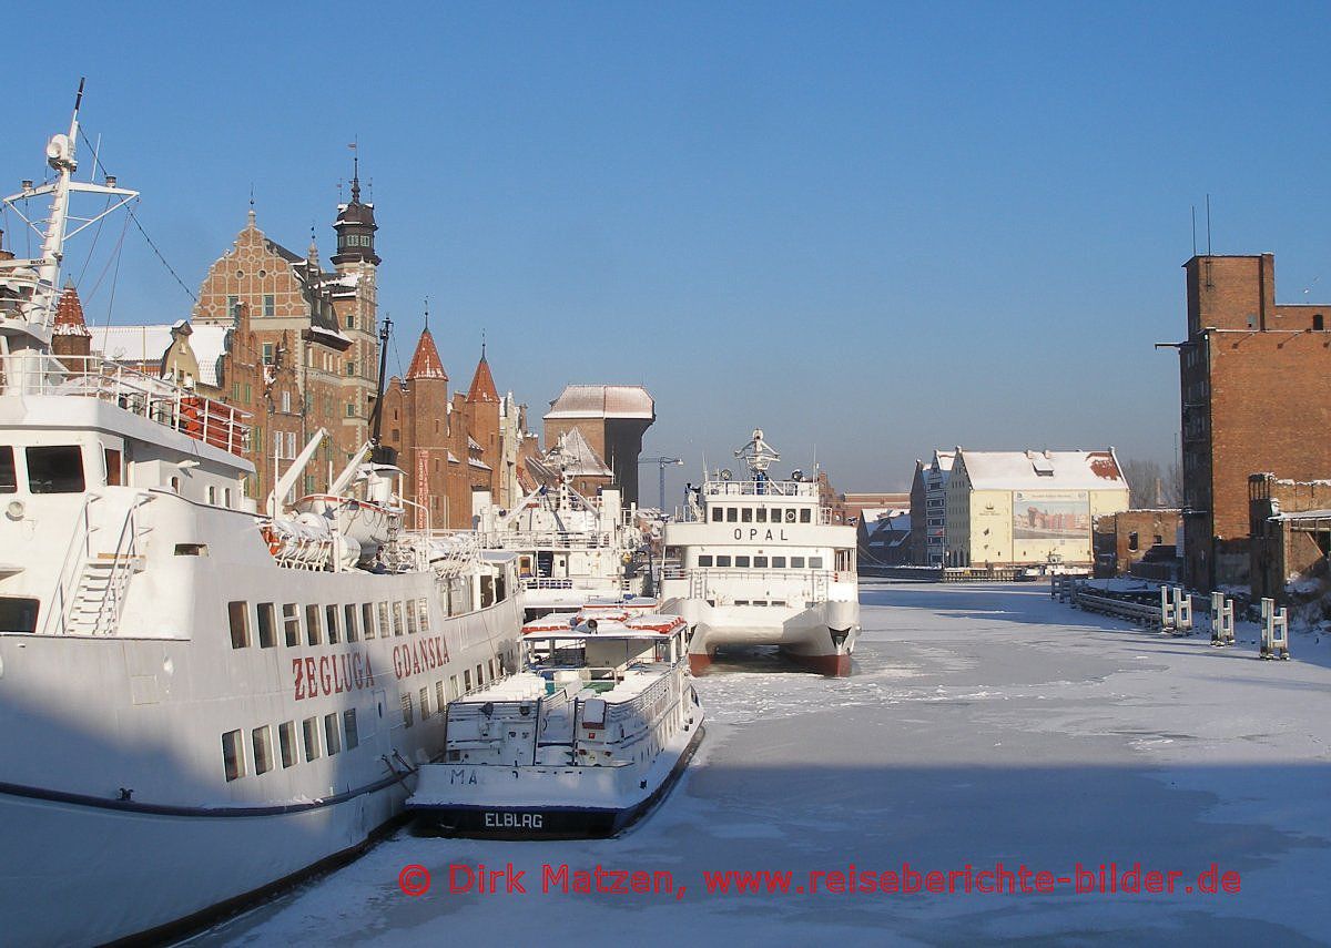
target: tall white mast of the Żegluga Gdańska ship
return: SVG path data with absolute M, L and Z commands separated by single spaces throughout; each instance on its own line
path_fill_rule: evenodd
M 79 144 L 79 109 L 83 105 L 83 92 L 84 80 L 80 79 L 75 111 L 69 118 L 69 132 L 53 134 L 47 142 L 47 164 L 56 173 L 55 180 L 36 188 L 32 181 L 24 181 L 17 194 L 3 198 L 7 208 L 41 236 L 41 257 L 0 261 L 0 284 L 11 284 L 21 298 L 17 312 L 0 313 L 0 342 L 5 348 L 5 354 L 51 352 L 51 330 L 56 317 L 65 241 L 138 197 L 137 190 L 116 186 L 116 178 L 110 174 L 106 176 L 105 184 L 75 180 L 75 170 L 79 168 L 75 154 Z M 120 200 L 109 204 L 95 217 L 72 217 L 69 198 L 75 192 L 101 194 L 108 198 L 114 196 Z M 32 221 L 23 213 L 19 202 L 45 194 L 51 196 L 51 209 L 43 229 L 39 221 Z M 77 222 L 73 230 L 69 229 L 71 221 Z

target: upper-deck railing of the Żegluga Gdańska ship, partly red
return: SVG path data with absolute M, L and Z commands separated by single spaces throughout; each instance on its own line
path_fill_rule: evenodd
M 248 411 L 100 356 L 0 356 L 11 391 L 95 398 L 232 454 L 249 450 Z

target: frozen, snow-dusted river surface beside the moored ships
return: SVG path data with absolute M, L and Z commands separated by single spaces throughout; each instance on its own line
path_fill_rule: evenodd
M 1046 586 L 866 585 L 861 602 L 849 679 L 759 656 L 699 680 L 703 750 L 623 837 L 402 831 L 190 944 L 1326 944 L 1326 638 L 1292 636 L 1294 660 L 1260 662 L 1250 630 L 1218 651 L 1205 635 L 1077 612 Z M 1008 884 L 1000 861 L 1014 876 L 1026 867 L 1018 889 L 1047 872 L 1053 891 L 976 891 Z M 450 865 L 478 863 L 511 863 L 526 893 L 503 881 L 450 893 Z M 1078 877 L 1098 887 L 1109 863 L 1129 885 L 1137 863 L 1143 885 L 1174 872 L 1175 891 L 1075 891 Z M 398 885 L 409 864 L 431 873 L 419 897 Z M 673 891 L 564 893 L 554 875 L 543 892 L 547 864 L 567 865 L 570 885 L 599 864 L 658 873 Z M 878 891 L 825 891 L 847 888 L 831 873 L 852 864 L 857 885 Z M 789 891 L 708 892 L 705 873 L 728 871 L 789 873 Z M 881 891 L 916 871 L 952 873 L 933 884 L 954 891 Z M 1238 891 L 1199 891 L 1213 880 Z

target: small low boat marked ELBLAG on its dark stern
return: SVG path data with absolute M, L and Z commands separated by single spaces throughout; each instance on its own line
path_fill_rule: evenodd
M 640 600 L 524 624 L 523 671 L 449 704 L 443 760 L 419 768 L 406 804 L 417 826 L 494 839 L 623 832 L 703 738 L 687 628 Z

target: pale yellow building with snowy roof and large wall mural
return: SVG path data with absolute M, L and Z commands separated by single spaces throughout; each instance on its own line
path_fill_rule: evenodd
M 1127 507 L 1127 481 L 1113 447 L 958 447 L 946 487 L 945 565 L 1089 565 L 1093 519 Z

